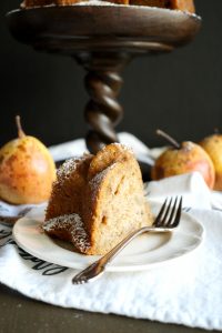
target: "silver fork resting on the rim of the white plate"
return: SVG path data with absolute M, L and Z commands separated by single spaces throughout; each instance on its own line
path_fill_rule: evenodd
M 139 234 L 144 232 L 172 232 L 180 222 L 182 211 L 182 196 L 174 199 L 171 198 L 163 202 L 158 216 L 155 218 L 152 226 L 143 226 L 139 230 L 130 233 L 124 240 L 115 245 L 110 252 L 104 254 L 102 258 L 93 262 L 87 269 L 78 273 L 73 279 L 73 284 L 83 284 L 89 281 L 94 281 L 102 273 L 104 273 L 105 266 Z

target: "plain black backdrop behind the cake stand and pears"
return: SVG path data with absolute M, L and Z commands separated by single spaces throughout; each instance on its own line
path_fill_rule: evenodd
M 20 0 L 0 2 L 0 145 L 16 137 L 14 115 L 46 144 L 83 137 L 88 100 L 84 71 L 72 59 L 44 54 L 10 36 L 4 14 Z M 179 141 L 199 141 L 222 130 L 222 1 L 195 0 L 203 23 L 189 46 L 172 53 L 137 58 L 123 72 L 118 131 L 149 147 L 163 144 L 155 129 Z

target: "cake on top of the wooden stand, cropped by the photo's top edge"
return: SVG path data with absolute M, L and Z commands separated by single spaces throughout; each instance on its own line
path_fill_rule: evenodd
M 168 9 L 178 9 L 182 11 L 195 12 L 193 0 L 99 0 L 117 4 L 149 6 Z M 42 6 L 71 6 L 79 2 L 90 2 L 90 0 L 24 0 L 22 8 L 42 7 Z

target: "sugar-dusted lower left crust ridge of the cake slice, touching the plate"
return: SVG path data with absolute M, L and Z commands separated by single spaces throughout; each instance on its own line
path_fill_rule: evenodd
M 80 215 L 65 214 L 46 221 L 42 229 L 49 233 L 57 235 L 57 232 L 64 232 L 73 245 L 82 253 L 85 253 L 90 248 L 89 236 L 84 230 L 84 224 Z

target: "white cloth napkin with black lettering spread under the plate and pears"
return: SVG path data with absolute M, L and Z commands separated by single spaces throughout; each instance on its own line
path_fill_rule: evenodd
M 57 148 L 52 151 L 58 157 Z M 143 152 L 145 158 L 152 155 L 149 149 Z M 196 251 L 157 269 L 105 273 L 90 284 L 72 285 L 77 271 L 26 253 L 12 239 L 9 224 L 1 223 L 0 282 L 32 299 L 64 307 L 222 330 L 222 195 L 211 192 L 199 173 L 150 182 L 145 192 L 151 204 L 162 202 L 167 195 L 183 195 L 184 210 L 205 230 Z M 14 210 L 1 203 L 0 215 L 10 214 L 11 208 Z

